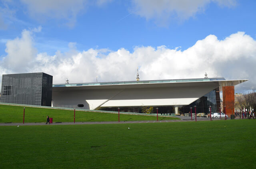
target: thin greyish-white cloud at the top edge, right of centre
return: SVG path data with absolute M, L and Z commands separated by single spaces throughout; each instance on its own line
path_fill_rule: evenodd
M 153 19 L 157 24 L 166 26 L 170 20 L 186 20 L 198 12 L 203 12 L 210 2 L 228 7 L 236 5 L 236 0 L 133 0 L 132 11 L 147 20 Z

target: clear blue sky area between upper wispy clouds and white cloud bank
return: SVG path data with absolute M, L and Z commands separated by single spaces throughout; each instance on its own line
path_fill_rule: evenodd
M 1 5 L 4 7 L 3 4 Z M 32 18 L 21 2 L 8 5 L 15 10 L 15 20 L 7 29 L 1 29 L 1 39 L 14 39 L 23 29 L 42 26 L 35 41 L 39 52 L 53 54 L 56 50 L 68 47 L 76 42 L 77 49 L 120 48 L 133 51 L 134 46 L 166 45 L 170 48 L 182 47 L 182 50 L 194 45 L 198 39 L 214 34 L 218 39 L 244 31 L 256 38 L 256 1 L 236 1 L 235 6 L 219 6 L 214 2 L 206 5 L 204 11 L 186 19 L 169 20 L 166 25 L 158 26 L 154 19 L 146 20 L 133 12 L 131 1 L 112 1 L 102 6 L 90 5 L 78 13 L 73 27 L 66 26 L 65 19 L 45 17 L 43 21 Z M 132 14 L 131 14 L 132 13 Z M 130 14 L 130 15 L 129 15 Z M 52 47 L 49 47 L 52 46 Z M 1 55 L 5 55 L 5 43 L 0 45 Z

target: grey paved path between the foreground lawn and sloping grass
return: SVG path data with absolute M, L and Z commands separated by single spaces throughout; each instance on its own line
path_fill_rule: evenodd
M 130 124 L 130 123 L 166 123 L 166 122 L 191 122 L 191 117 L 179 117 L 180 120 L 144 120 L 144 121 L 114 121 L 114 122 L 58 122 L 58 123 L 52 123 L 50 125 L 76 125 L 76 124 Z M 197 118 L 197 121 L 209 121 L 209 118 Z M 220 120 L 212 118 L 213 121 Z M 193 117 L 192 121 L 196 121 Z M 40 126 L 40 125 L 49 125 L 44 123 L 0 123 L 0 126 Z

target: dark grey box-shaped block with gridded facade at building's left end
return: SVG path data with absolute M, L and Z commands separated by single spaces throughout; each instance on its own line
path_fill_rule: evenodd
M 2 76 L 0 102 L 52 106 L 52 76 L 22 73 Z

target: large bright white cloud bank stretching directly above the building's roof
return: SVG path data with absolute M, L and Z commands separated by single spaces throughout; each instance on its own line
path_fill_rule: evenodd
M 229 80 L 249 79 L 236 90 L 256 89 L 256 41 L 244 32 L 223 40 L 208 35 L 190 48 L 181 51 L 166 46 L 89 49 L 79 52 L 70 43 L 68 52 L 55 55 L 37 53 L 31 31 L 24 30 L 20 38 L 6 43 L 6 57 L 0 61 L 3 73 L 45 72 L 54 76 L 54 83 L 98 81 L 130 81 L 140 68 L 141 80 L 224 77 Z

